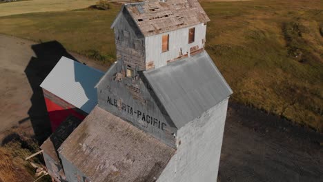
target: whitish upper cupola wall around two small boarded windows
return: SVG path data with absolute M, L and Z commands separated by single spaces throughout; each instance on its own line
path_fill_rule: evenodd
M 195 41 L 188 43 L 188 29 L 195 27 Z M 161 39 L 164 34 L 169 34 L 169 50 L 161 52 Z M 183 54 L 190 52 L 190 48 L 199 45 L 199 48 L 204 47 L 202 39 L 206 39 L 206 25 L 200 23 L 197 26 L 182 28 L 173 32 L 164 34 L 156 34 L 146 37 L 146 63 L 154 61 L 155 68 L 166 65 L 166 61 L 179 57 L 179 51 L 182 48 Z

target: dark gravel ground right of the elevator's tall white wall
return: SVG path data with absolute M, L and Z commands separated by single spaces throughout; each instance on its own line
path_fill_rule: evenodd
M 229 102 L 219 181 L 322 181 L 322 135 Z

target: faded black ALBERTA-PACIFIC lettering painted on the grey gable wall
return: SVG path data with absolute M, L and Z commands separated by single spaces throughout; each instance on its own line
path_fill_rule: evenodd
M 126 103 L 122 103 L 121 101 L 117 101 L 117 99 L 112 99 L 112 97 L 108 96 L 108 99 L 106 101 L 112 106 L 115 106 L 116 108 L 121 108 L 122 112 L 126 112 L 127 114 L 130 114 L 132 116 L 137 116 L 137 119 L 141 119 L 141 121 L 144 121 L 150 125 L 153 125 L 154 127 L 158 128 L 159 130 L 165 130 L 167 125 L 164 122 L 161 122 L 159 119 L 156 119 L 154 117 L 151 117 L 149 114 L 145 112 L 141 112 L 140 110 L 133 110 L 133 107 L 130 105 L 126 105 Z

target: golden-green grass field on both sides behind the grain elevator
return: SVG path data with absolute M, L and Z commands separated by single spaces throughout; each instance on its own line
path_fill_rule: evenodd
M 233 88 L 233 99 L 322 132 L 323 1 L 202 1 L 202 6 L 211 18 L 206 50 Z M 57 40 L 109 65 L 115 61 L 110 25 L 119 8 L 0 17 L 0 33 Z

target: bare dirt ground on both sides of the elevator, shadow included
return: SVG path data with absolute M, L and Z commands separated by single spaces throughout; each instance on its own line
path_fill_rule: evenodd
M 0 141 L 12 128 L 35 134 L 40 143 L 46 139 L 50 127 L 39 85 L 62 55 L 107 70 L 57 41 L 35 43 L 0 34 Z M 219 181 L 321 181 L 320 142 L 320 134 L 231 102 Z

